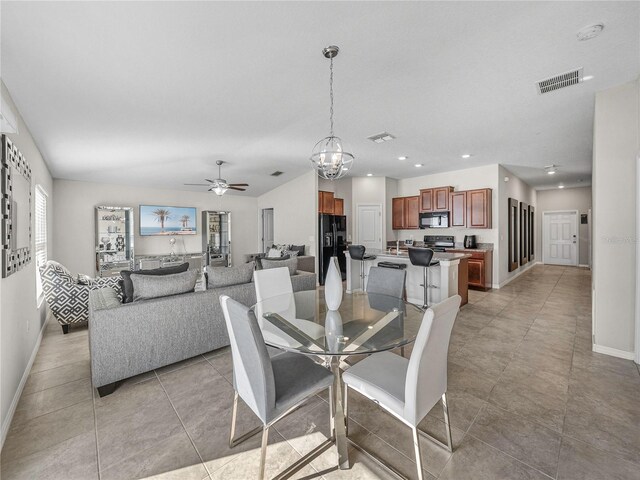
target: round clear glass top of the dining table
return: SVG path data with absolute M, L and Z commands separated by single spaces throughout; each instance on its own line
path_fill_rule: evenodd
M 265 343 L 312 355 L 360 355 L 415 340 L 423 312 L 399 298 L 371 293 L 344 295 L 328 310 L 323 293 L 279 295 L 252 307 Z

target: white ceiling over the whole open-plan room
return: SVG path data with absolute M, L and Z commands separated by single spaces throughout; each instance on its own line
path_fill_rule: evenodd
M 186 188 L 222 159 L 255 196 L 306 172 L 328 134 L 321 50 L 336 44 L 336 134 L 353 175 L 501 163 L 536 187 L 588 185 L 594 92 L 640 74 L 639 2 L 1 8 L 3 80 L 53 175 L 75 180 Z M 596 22 L 602 35 L 578 42 Z M 536 81 L 576 67 L 593 80 L 537 94 Z M 366 140 L 382 131 L 397 139 Z

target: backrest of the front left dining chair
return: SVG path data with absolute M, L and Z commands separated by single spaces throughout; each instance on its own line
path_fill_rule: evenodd
M 276 405 L 271 359 L 258 322 L 249 310 L 227 295 L 220 305 L 229 331 L 233 358 L 233 383 L 238 395 L 267 423 Z

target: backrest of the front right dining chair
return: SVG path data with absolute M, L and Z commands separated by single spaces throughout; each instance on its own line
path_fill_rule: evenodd
M 427 309 L 407 367 L 404 418 L 417 425 L 447 392 L 447 353 L 460 295 Z

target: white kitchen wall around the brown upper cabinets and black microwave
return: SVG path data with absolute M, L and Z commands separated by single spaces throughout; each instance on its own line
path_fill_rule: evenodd
M 399 197 L 418 195 L 422 188 L 433 187 L 454 187 L 455 190 L 474 190 L 476 188 L 492 189 L 492 227 L 489 229 L 470 229 L 463 227 L 438 228 L 429 230 L 394 230 L 393 239 L 405 240 L 413 235 L 415 240 L 422 240 L 424 235 L 453 235 L 456 242 L 462 242 L 465 235 L 476 235 L 480 243 L 493 243 L 493 284 L 500 282 L 499 265 L 500 245 L 499 245 L 499 202 L 498 202 L 498 177 L 499 166 L 486 165 L 482 167 L 468 168 L 465 170 L 455 170 L 451 172 L 435 173 L 414 178 L 404 178 L 398 180 Z M 389 213 L 391 215 L 391 213 Z

